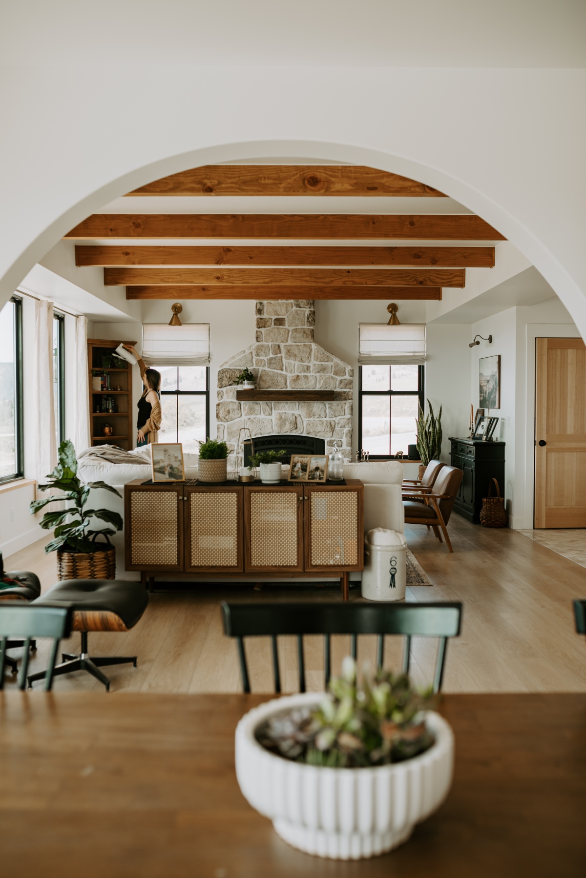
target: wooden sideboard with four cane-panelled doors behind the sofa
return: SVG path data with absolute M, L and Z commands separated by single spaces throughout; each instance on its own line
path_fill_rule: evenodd
M 125 486 L 126 569 L 210 579 L 331 577 L 363 569 L 364 488 L 197 481 Z

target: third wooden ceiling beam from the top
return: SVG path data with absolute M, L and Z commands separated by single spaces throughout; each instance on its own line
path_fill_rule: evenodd
M 494 247 L 295 247 L 76 245 L 76 265 L 402 265 L 493 268 Z

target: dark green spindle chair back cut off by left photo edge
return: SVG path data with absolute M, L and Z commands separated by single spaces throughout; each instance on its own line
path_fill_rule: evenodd
M 45 691 L 51 690 L 59 643 L 62 637 L 69 637 L 71 633 L 72 615 L 72 608 L 62 605 L 61 607 L 31 607 L 20 601 L 18 603 L 0 603 L 0 689 L 4 688 L 4 666 L 8 658 L 6 650 L 12 638 L 18 637 L 24 641 L 25 649 L 18 675 L 18 688 L 24 689 L 33 638 L 51 637 L 53 644 L 45 677 Z

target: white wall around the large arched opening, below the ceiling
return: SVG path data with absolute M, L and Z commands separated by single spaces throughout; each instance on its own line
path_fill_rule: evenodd
M 62 234 L 137 185 L 198 164 L 300 155 L 370 164 L 445 191 L 517 246 L 586 333 L 583 70 L 178 75 L 156 66 L 137 76 L 133 65 L 105 63 L 69 68 L 67 80 L 63 89 L 61 68 L 29 65 L 9 68 L 0 83 L 0 299 Z M 462 107 L 466 124 L 455 124 Z

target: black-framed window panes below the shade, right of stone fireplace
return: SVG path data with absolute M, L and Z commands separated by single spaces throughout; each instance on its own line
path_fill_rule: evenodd
M 371 460 L 384 459 L 417 441 L 416 420 L 423 407 L 424 367 L 360 366 L 358 447 Z

